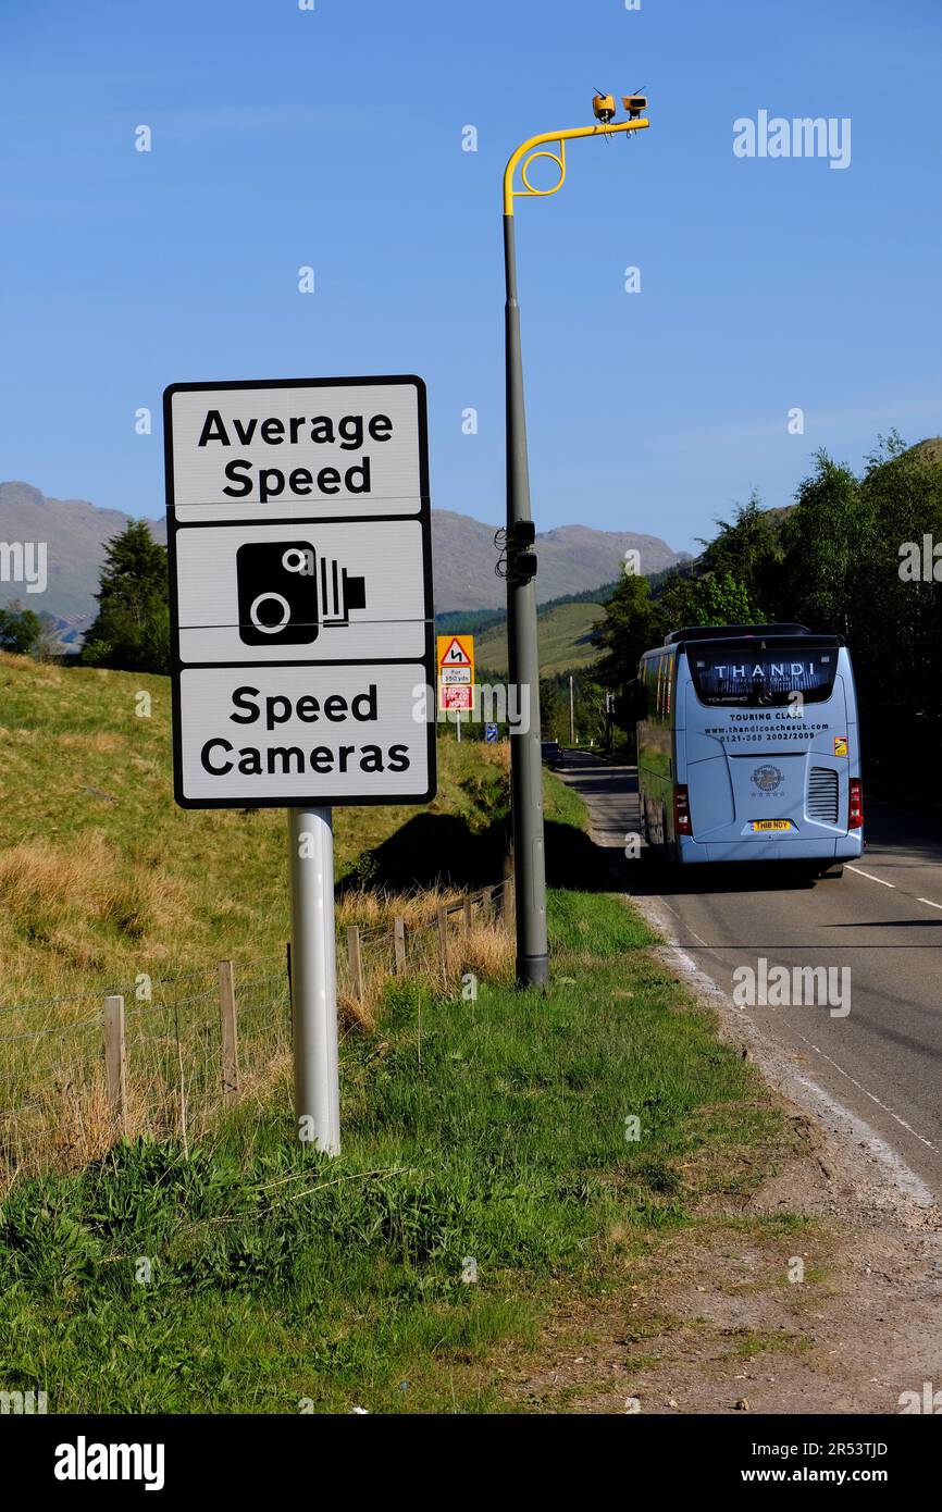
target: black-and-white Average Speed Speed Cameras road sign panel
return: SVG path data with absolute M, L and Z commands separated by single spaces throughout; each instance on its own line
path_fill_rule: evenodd
M 422 380 L 171 384 L 163 423 L 177 803 L 428 803 Z

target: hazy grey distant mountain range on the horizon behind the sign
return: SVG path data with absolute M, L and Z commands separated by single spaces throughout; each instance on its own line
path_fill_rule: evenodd
M 0 484 L 0 541 L 45 541 L 47 590 L 26 593 L 24 584 L 0 581 L 0 605 L 20 599 L 29 608 L 57 620 L 60 638 L 76 643 L 95 615 L 92 594 L 104 546 L 118 535 L 130 514 L 100 510 L 86 499 L 47 499 L 27 482 Z M 148 520 L 159 541 L 166 543 L 166 522 Z M 432 510 L 432 558 L 435 609 L 502 609 L 504 581 L 494 569 L 494 525 L 466 514 Z M 594 531 L 585 525 L 562 525 L 537 537 L 537 599 L 559 599 L 611 582 L 621 572 L 626 550 L 641 556 L 641 572 L 653 573 L 685 559 L 655 535 L 634 531 Z

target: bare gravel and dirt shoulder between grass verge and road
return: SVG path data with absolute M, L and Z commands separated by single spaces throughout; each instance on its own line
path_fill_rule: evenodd
M 587 801 L 593 839 L 614 854 L 611 807 L 593 813 Z M 631 901 L 670 939 L 656 897 Z M 591 1300 L 561 1294 L 537 1349 L 505 1361 L 508 1403 L 900 1414 L 903 1393 L 942 1388 L 942 1213 L 894 1149 L 683 951 L 656 954 L 762 1074 L 789 1128 L 788 1155 L 748 1196 L 714 1199 L 693 1226 L 659 1235 Z

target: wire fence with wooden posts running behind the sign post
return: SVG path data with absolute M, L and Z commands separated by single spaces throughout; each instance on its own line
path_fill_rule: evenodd
M 449 989 L 507 951 L 507 888 L 337 931 L 342 1033 L 375 1025 L 390 977 Z M 290 1075 L 290 948 L 109 992 L 0 1004 L 0 1187 L 133 1134 L 184 1145 Z

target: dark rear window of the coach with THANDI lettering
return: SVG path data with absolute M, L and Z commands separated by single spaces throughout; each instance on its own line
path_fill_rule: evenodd
M 838 668 L 835 647 L 813 644 L 782 650 L 688 646 L 686 658 L 700 703 L 742 708 L 788 703 L 795 692 L 821 703 L 830 699 Z

